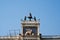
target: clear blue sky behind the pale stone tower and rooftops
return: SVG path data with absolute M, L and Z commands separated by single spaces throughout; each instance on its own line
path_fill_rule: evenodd
M 40 18 L 40 33 L 60 35 L 60 0 L 0 0 L 0 35 L 20 29 L 29 13 Z

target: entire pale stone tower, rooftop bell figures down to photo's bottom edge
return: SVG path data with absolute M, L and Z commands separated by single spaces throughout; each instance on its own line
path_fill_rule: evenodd
M 25 16 L 21 24 L 23 40 L 40 40 L 40 22 L 36 19 L 35 16 L 32 17 L 32 14 L 29 13 L 29 16 Z

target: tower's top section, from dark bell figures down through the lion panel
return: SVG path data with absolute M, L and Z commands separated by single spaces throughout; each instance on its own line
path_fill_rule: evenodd
M 39 34 L 39 21 L 36 20 L 36 17 L 32 17 L 32 14 L 29 13 L 29 16 L 25 16 L 22 24 L 22 34 L 25 36 L 35 36 Z

